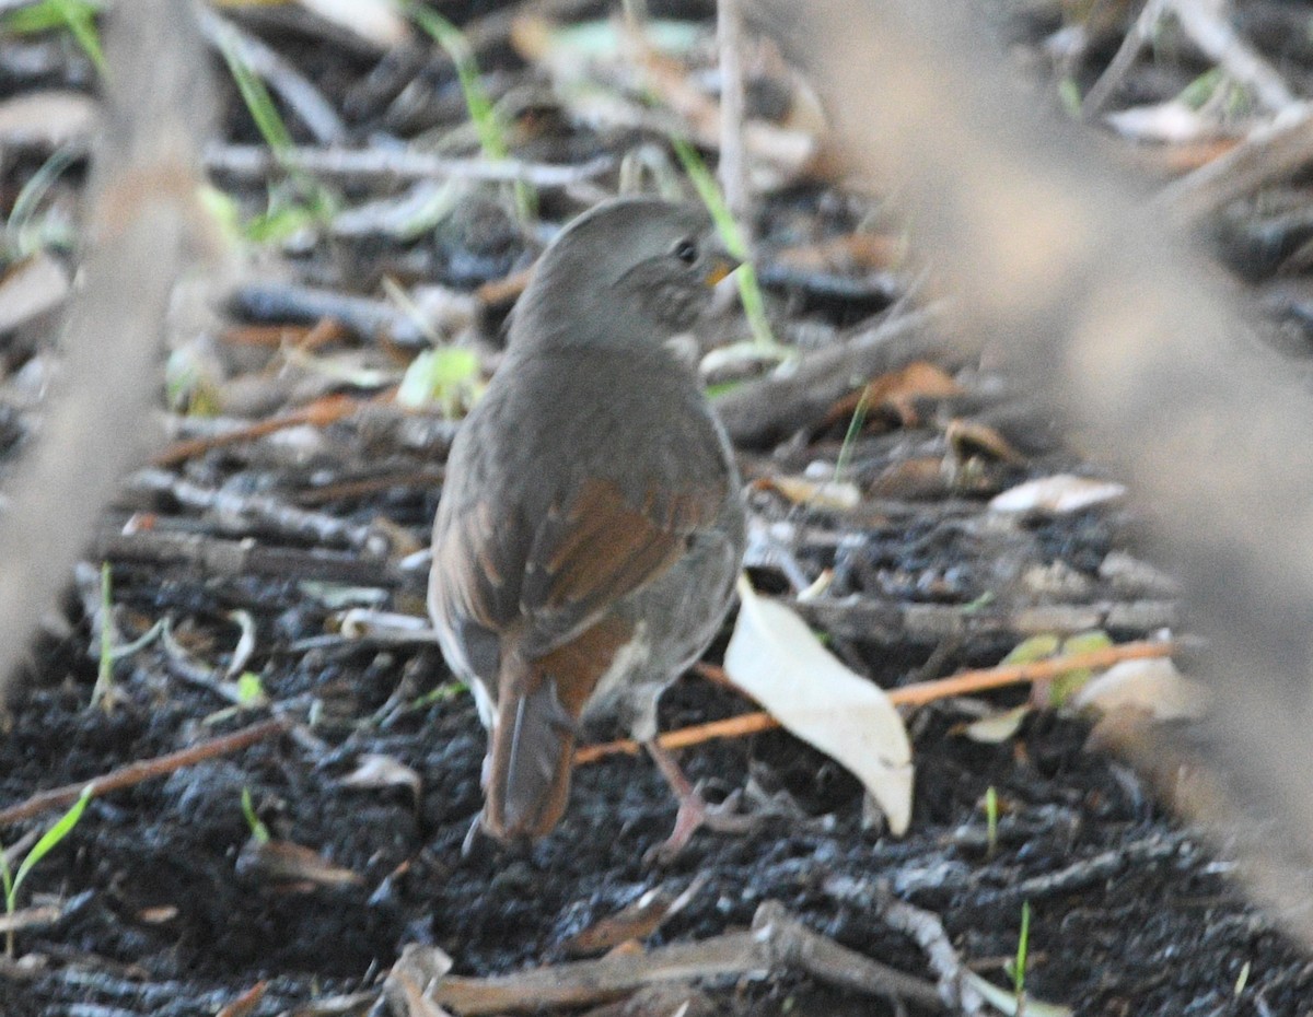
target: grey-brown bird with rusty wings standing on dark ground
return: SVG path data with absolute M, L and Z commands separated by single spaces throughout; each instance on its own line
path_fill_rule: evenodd
M 708 819 L 655 743 L 656 701 L 720 631 L 743 562 L 734 453 L 688 357 L 737 266 L 702 207 L 612 198 L 557 235 L 512 311 L 449 451 L 428 587 L 488 731 L 471 836 L 546 836 L 596 718 L 679 797 L 667 853 Z

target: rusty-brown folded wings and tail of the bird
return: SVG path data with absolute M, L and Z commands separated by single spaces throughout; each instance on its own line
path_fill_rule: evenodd
M 483 824 L 495 836 L 555 825 L 575 720 L 634 635 L 609 609 L 663 575 L 722 510 L 725 480 L 680 482 L 651 480 L 626 497 L 617 482 L 592 478 L 532 510 L 494 510 L 496 491 L 440 507 L 429 608 L 448 657 L 454 648 L 494 699 Z

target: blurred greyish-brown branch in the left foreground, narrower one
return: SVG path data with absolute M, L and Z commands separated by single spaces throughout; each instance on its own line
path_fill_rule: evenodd
M 196 253 L 194 139 L 213 102 L 190 5 L 121 5 L 106 51 L 114 129 L 93 161 L 85 285 L 60 341 L 66 384 L 21 463 L 0 531 L 0 699 L 96 516 L 144 453 L 169 295 Z

